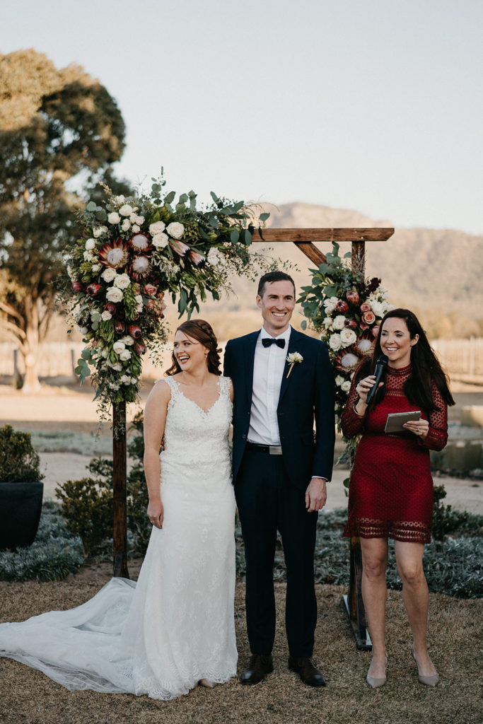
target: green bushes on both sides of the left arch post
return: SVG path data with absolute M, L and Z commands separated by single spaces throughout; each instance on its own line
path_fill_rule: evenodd
M 135 435 L 127 446 L 134 460 L 127 476 L 127 527 L 133 536 L 134 550 L 143 554 L 152 529 L 146 515 L 149 499 L 143 470 L 143 413 L 135 416 L 133 429 Z M 85 555 L 98 552 L 112 538 L 113 530 L 112 460 L 94 458 L 88 469 L 92 477 L 56 487 L 67 527 L 82 539 Z

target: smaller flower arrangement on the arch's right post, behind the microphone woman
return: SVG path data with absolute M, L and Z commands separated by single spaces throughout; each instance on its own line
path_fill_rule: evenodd
M 350 253 L 345 255 L 350 257 Z M 305 316 L 327 342 L 335 368 L 335 414 L 340 416 L 350 390 L 350 381 L 361 360 L 372 355 L 379 324 L 393 306 L 381 280 L 365 279 L 339 256 L 339 245 L 332 243 L 327 263 L 311 269 L 312 285 L 303 287 L 301 301 Z M 306 327 L 304 321 L 303 327 Z

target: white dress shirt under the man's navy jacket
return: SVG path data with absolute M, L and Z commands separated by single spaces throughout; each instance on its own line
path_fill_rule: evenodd
M 256 340 L 248 440 L 257 445 L 280 445 L 277 406 L 291 331 L 288 327 L 276 337 L 285 341 L 283 349 L 278 345 L 264 347 L 261 340 L 274 339 L 264 327 Z

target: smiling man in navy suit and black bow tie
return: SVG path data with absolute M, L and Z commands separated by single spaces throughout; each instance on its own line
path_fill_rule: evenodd
M 264 274 L 256 303 L 261 331 L 230 340 L 224 353 L 224 374 L 235 390 L 233 481 L 245 543 L 252 654 L 241 683 L 259 683 L 273 670 L 278 529 L 287 566 L 288 665 L 304 683 L 324 686 L 311 659 L 317 618 L 314 548 L 317 511 L 324 507 L 332 475 L 334 376 L 324 342 L 290 327 L 295 285 L 288 274 Z M 293 355 L 290 361 L 287 355 Z

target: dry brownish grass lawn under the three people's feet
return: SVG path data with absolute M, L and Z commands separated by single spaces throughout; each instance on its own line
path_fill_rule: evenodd
M 83 603 L 98 581 L 0 583 L 0 620 L 22 620 L 46 610 Z M 0 659 L 1 724 L 476 724 L 481 700 L 482 619 L 479 599 L 430 595 L 429 641 L 440 683 L 418 683 L 400 592 L 387 602 L 387 684 L 369 689 L 364 678 L 370 654 L 358 652 L 341 602 L 342 586 L 317 585 L 319 623 L 314 658 L 327 678 L 325 689 L 304 686 L 287 670 L 283 630 L 285 584 L 276 584 L 277 639 L 274 673 L 257 686 L 232 679 L 215 689 L 198 687 L 172 702 L 146 696 L 70 692 L 42 673 Z M 243 583 L 237 584 L 239 670 L 248 660 Z

